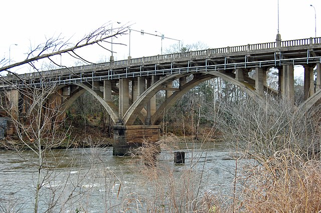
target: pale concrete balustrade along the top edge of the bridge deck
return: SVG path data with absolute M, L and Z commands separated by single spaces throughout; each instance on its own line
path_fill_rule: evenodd
M 294 46 L 306 46 L 306 45 L 313 45 L 313 44 L 321 44 L 321 37 L 315 38 L 303 38 L 303 39 L 295 39 L 295 40 L 285 40 L 280 41 L 280 48 L 282 47 L 294 47 Z M 61 69 L 53 69 L 33 73 L 26 73 L 26 74 L 19 74 L 21 78 L 34 78 L 40 76 L 52 76 L 52 75 L 60 75 L 60 74 L 73 74 L 73 73 L 81 73 L 86 69 L 93 69 L 93 68 L 100 68 L 100 67 L 108 67 L 108 66 L 126 66 L 128 64 L 135 65 L 140 63 L 152 63 L 152 62 L 162 62 L 162 60 L 173 60 L 173 59 L 185 59 L 188 57 L 204 57 L 208 58 L 210 56 L 215 56 L 218 54 L 227 54 L 231 52 L 245 52 L 245 51 L 252 51 L 252 50 L 264 50 L 264 49 L 272 49 L 277 48 L 277 41 L 274 42 L 266 42 L 266 43 L 256 43 L 256 44 L 247 44 L 247 45 L 240 45 L 240 46 L 228 46 L 222 48 L 214 48 L 214 49 L 204 49 L 204 50 L 195 50 L 189 52 L 178 52 L 178 53 L 171 53 L 171 54 L 162 54 L 162 55 L 152 55 L 147 57 L 139 57 L 139 58 L 132 58 L 128 63 L 128 60 L 117 60 L 111 62 L 103 62 L 97 64 L 87 64 L 81 66 L 72 66 L 69 68 L 61 68 Z M 6 78 L 11 80 L 13 76 L 7 75 Z

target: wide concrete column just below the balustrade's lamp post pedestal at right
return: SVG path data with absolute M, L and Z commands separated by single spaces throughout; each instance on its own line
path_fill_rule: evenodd
M 293 65 L 283 65 L 282 96 L 294 104 L 294 69 Z

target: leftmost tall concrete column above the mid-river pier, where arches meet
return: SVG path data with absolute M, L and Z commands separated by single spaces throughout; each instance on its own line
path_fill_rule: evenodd
M 122 117 L 129 107 L 129 80 L 119 79 L 119 117 Z

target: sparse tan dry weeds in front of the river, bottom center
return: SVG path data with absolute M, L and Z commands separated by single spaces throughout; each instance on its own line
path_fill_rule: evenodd
M 145 140 L 143 145 L 132 155 L 132 161 L 137 165 L 137 172 L 146 176 L 146 182 L 141 183 L 149 188 L 149 196 L 140 197 L 144 211 L 148 212 L 202 212 L 201 209 L 214 209 L 212 198 L 202 199 L 199 188 L 202 174 L 194 170 L 198 157 L 190 153 L 193 159 L 189 164 L 173 167 L 173 159 L 159 159 L 161 150 L 173 153 L 177 147 L 178 138 L 175 135 L 165 135 L 157 143 Z M 194 146 L 190 149 L 195 151 Z M 203 171 L 202 171 L 203 172 Z M 206 171 L 204 171 L 206 172 Z M 139 186 L 138 186 L 139 187 Z M 209 200 L 212 201 L 209 201 Z M 200 204 L 202 203 L 202 204 Z M 216 207 L 216 209 L 218 209 Z M 206 211 L 204 211 L 206 212 Z

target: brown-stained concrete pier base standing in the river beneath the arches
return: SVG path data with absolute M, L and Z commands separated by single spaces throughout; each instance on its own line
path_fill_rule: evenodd
M 160 125 L 114 125 L 113 155 L 129 155 L 144 141 L 158 141 L 160 129 Z

